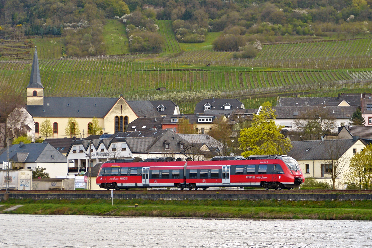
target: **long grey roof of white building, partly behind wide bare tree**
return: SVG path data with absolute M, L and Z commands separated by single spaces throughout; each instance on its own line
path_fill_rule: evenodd
M 301 113 L 306 113 L 308 110 L 318 108 L 319 106 L 302 106 L 302 107 L 272 107 L 275 110 L 276 119 L 296 119 L 301 116 Z M 336 119 L 350 119 L 357 109 L 357 106 L 326 106 L 330 109 L 331 116 Z M 294 115 L 298 113 L 298 115 Z

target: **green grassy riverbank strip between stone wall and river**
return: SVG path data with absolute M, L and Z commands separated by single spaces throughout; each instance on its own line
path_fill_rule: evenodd
M 134 208 L 137 203 L 138 207 Z M 153 216 L 247 219 L 372 220 L 372 201 L 277 200 L 8 200 L 1 210 L 22 204 L 11 214 Z

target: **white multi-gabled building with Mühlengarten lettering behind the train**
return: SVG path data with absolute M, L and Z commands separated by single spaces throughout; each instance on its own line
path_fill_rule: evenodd
M 203 152 L 182 151 L 191 144 L 171 130 L 135 131 L 89 136 L 76 139 L 67 151 L 70 173 L 86 171 L 87 166 L 116 158 L 174 157 L 185 160 L 190 154 Z

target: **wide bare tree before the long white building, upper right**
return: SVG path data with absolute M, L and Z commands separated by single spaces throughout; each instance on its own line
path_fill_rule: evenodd
M 318 140 L 325 133 L 331 132 L 336 125 L 336 119 L 327 107 L 309 107 L 300 113 L 295 125 L 302 132 L 304 140 Z

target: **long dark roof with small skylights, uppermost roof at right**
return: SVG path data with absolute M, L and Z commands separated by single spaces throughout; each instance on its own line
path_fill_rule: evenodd
M 360 94 L 341 94 L 337 97 L 280 97 L 278 106 L 337 106 L 343 100 L 350 106 L 360 106 Z

